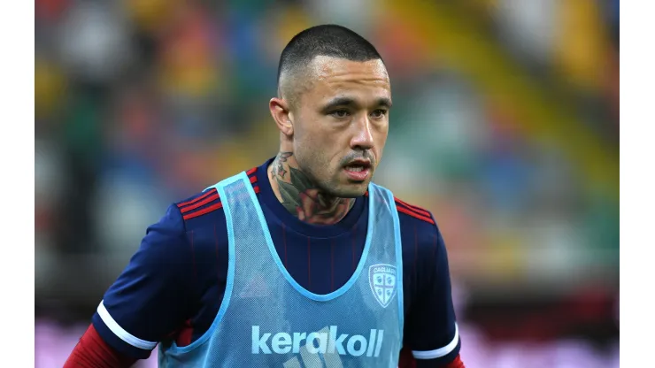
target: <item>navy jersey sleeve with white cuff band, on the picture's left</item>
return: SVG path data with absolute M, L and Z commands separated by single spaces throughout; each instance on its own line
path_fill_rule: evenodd
M 141 246 L 92 318 L 97 333 L 113 349 L 147 358 L 158 341 L 183 324 L 194 294 L 189 244 L 175 205 L 148 227 Z

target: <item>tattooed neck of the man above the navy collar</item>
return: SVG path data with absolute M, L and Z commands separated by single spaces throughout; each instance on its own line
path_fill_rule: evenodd
M 329 196 L 321 191 L 298 168 L 293 152 L 280 152 L 267 172 L 271 188 L 284 208 L 310 224 L 336 224 L 355 203 L 354 198 Z

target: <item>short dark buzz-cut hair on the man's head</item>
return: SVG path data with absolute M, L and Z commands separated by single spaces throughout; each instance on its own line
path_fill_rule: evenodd
M 318 56 L 351 61 L 382 60 L 371 42 L 349 28 L 335 24 L 310 27 L 295 35 L 282 50 L 277 71 L 278 88 L 282 73 L 308 65 Z

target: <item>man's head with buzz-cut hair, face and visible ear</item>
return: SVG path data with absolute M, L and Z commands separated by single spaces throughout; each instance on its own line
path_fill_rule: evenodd
M 389 130 L 389 75 L 374 46 L 350 29 L 317 26 L 282 51 L 269 108 L 281 151 L 324 192 L 361 196 Z

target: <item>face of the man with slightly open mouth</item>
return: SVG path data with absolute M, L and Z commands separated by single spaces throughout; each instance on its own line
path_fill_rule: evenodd
M 381 60 L 317 57 L 293 114 L 300 169 L 332 196 L 366 192 L 389 132 L 391 87 Z M 297 81 L 303 83 L 303 81 Z

